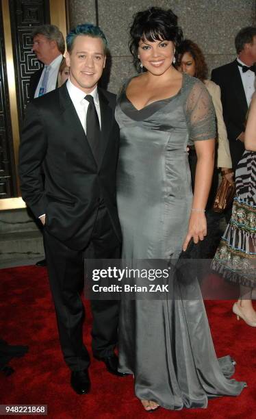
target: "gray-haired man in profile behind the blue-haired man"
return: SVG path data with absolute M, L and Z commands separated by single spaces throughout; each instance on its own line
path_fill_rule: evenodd
M 44 67 L 31 75 L 29 98 L 33 99 L 51 92 L 57 87 L 57 75 L 65 51 L 65 41 L 55 25 L 41 25 L 34 29 L 32 51 Z

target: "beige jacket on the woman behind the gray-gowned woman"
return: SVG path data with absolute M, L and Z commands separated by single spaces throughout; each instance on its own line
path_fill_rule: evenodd
M 217 130 L 218 130 L 218 156 L 217 166 L 218 167 L 232 167 L 229 140 L 227 139 L 227 129 L 222 116 L 222 104 L 220 100 L 220 86 L 215 84 L 212 80 L 205 80 L 205 87 L 212 97 L 214 103 L 216 119 L 217 119 Z

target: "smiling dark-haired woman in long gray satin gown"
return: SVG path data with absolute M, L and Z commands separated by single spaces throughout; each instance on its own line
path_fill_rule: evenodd
M 205 205 L 214 168 L 215 115 L 207 89 L 172 62 L 182 38 L 171 10 L 136 14 L 130 50 L 143 71 L 120 91 L 118 212 L 123 259 L 179 257 L 206 235 Z M 189 138 L 198 163 L 194 197 Z M 166 262 L 167 263 L 167 262 Z M 123 299 L 120 371 L 133 374 L 144 409 L 207 407 L 240 394 L 231 357 L 217 359 L 202 299 Z

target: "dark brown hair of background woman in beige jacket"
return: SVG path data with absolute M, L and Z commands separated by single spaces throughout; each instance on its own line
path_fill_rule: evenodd
M 183 55 L 188 52 L 194 58 L 194 62 L 196 64 L 196 73 L 194 77 L 197 79 L 204 81 L 207 79 L 208 75 L 208 67 L 205 62 L 205 57 L 203 55 L 202 50 L 199 46 L 190 39 L 184 39 L 183 42 L 178 47 L 178 60 L 176 66 L 179 67 L 181 65 L 181 60 Z

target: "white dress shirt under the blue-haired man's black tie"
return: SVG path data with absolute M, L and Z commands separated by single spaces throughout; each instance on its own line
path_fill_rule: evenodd
M 71 97 L 73 105 L 75 106 L 75 110 L 77 111 L 81 125 L 86 132 L 86 115 L 89 106 L 89 102 L 84 99 L 84 97 L 86 97 L 86 93 L 71 83 L 71 79 L 68 79 L 66 82 L 66 88 L 68 89 L 68 94 Z M 93 97 L 94 105 L 96 107 L 99 118 L 99 126 L 101 127 L 101 110 L 99 106 L 99 94 L 97 86 L 94 88 L 94 90 L 92 90 L 92 92 L 90 92 L 90 95 Z

